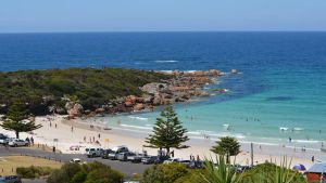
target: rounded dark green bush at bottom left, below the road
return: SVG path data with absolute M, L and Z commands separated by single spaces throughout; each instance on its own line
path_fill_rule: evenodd
M 124 175 L 101 162 L 93 161 L 84 165 L 65 164 L 54 170 L 48 178 L 48 183 L 117 183 Z

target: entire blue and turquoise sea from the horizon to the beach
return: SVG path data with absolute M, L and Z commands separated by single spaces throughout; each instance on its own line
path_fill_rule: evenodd
M 229 92 L 175 106 L 189 135 L 319 149 L 326 141 L 326 32 L 1 34 L 0 70 L 221 69 Z M 148 132 L 159 112 L 97 119 Z M 122 126 L 117 126 L 117 121 Z M 228 130 L 227 130 L 227 127 Z M 292 142 L 289 143 L 289 138 Z

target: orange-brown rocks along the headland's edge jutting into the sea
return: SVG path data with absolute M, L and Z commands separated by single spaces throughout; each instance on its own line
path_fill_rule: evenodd
M 141 95 L 127 95 L 116 100 L 111 100 L 106 104 L 95 110 L 84 110 L 78 102 L 68 101 L 65 110 L 70 118 L 103 114 L 134 113 L 148 110 L 152 112 L 154 106 L 167 105 L 173 103 L 189 102 L 191 97 L 206 97 L 211 94 L 203 90 L 206 84 L 214 83 L 218 77 L 225 74 L 221 70 L 198 70 L 180 71 L 174 70 L 156 71 L 162 75 L 172 76 L 170 79 L 162 79 L 160 82 L 150 82 L 140 87 Z M 237 74 L 235 69 L 231 71 Z M 213 89 L 215 93 L 224 93 L 227 89 Z

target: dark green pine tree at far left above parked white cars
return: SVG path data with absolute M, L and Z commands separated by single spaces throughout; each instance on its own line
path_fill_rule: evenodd
M 9 107 L 5 118 L 0 126 L 5 130 L 14 131 L 16 139 L 20 139 L 20 132 L 29 132 L 42 127 L 35 125 L 34 121 L 24 121 L 28 118 L 28 110 L 22 102 L 14 102 Z

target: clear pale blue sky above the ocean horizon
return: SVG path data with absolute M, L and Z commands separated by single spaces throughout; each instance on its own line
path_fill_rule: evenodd
M 326 0 L 1 0 L 0 32 L 326 30 Z

